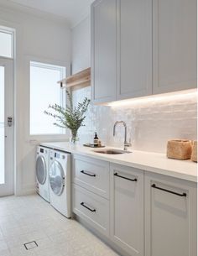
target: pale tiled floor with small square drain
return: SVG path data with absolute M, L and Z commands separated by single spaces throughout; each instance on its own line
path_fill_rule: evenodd
M 23 243 L 35 241 L 27 250 Z M 41 197 L 0 198 L 1 256 L 117 256 L 75 220 L 66 219 Z

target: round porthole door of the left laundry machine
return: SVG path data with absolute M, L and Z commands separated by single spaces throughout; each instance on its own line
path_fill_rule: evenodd
M 44 185 L 44 182 L 47 178 L 47 169 L 44 157 L 42 155 L 36 159 L 36 177 L 39 181 L 39 184 Z

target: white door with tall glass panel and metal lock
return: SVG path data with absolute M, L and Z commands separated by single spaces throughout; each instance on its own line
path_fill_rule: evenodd
M 0 196 L 13 194 L 13 60 L 0 58 Z

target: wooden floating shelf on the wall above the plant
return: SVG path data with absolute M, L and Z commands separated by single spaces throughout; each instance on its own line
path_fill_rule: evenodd
M 74 87 L 82 88 L 91 85 L 91 68 L 78 72 L 63 80 L 58 81 L 62 88 Z

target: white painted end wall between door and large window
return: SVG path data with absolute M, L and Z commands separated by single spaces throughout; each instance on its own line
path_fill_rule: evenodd
M 42 13 L 34 16 L 3 6 L 0 25 L 16 29 L 16 193 L 25 194 L 35 188 L 35 145 L 29 142 L 28 60 L 70 66 L 70 29 L 65 21 Z

